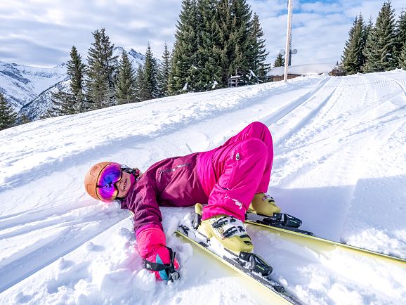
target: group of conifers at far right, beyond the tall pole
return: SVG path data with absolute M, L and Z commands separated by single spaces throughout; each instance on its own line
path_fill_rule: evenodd
M 406 69 L 406 11 L 398 20 L 391 1 L 385 1 L 375 24 L 365 22 L 362 13 L 355 17 L 341 56 L 346 74 Z

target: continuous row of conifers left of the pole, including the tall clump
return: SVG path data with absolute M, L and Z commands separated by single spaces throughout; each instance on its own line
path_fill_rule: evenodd
M 72 46 L 67 74 L 70 90 L 53 93 L 46 117 L 70 115 L 112 105 L 266 80 L 266 47 L 258 15 L 245 0 L 183 0 L 175 43 L 165 44 L 160 63 L 150 46 L 134 70 L 129 56 L 113 56 L 105 29 L 93 32 L 86 65 Z

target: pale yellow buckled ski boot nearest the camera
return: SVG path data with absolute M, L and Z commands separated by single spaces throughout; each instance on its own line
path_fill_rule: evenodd
M 196 218 L 193 227 L 207 239 L 216 238 L 226 249 L 239 254 L 252 252 L 251 238 L 240 219 L 228 215 L 216 215 L 206 220 L 202 219 L 202 205 L 195 205 Z

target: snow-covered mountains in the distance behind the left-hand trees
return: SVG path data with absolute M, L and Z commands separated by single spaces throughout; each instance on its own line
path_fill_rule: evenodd
M 128 53 L 134 69 L 142 64 L 145 55 L 133 48 L 114 48 L 114 56 Z M 59 84 L 68 79 L 66 64 L 56 67 L 30 67 L 15 63 L 0 61 L 0 91 L 4 93 L 8 103 L 19 114 L 25 114 L 32 120 L 39 119 L 51 105 L 51 92 L 58 88 L 67 88 L 66 84 Z M 58 85 L 57 85 L 58 84 Z

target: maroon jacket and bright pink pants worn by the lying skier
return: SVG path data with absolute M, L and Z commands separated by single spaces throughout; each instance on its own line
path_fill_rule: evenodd
M 162 229 L 160 206 L 208 203 L 202 219 L 228 214 L 244 220 L 254 194 L 268 190 L 272 163 L 270 131 L 254 122 L 218 148 L 153 164 L 129 190 L 122 209 L 134 213 L 136 235 Z

